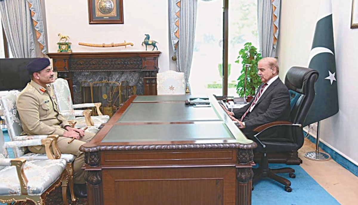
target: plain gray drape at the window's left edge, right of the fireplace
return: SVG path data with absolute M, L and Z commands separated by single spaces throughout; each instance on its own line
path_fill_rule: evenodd
M 176 51 L 176 61 L 177 70 L 184 72 L 185 87 L 189 87 L 189 91 L 189 75 L 194 51 L 197 5 L 197 0 L 180 1 L 179 41 Z

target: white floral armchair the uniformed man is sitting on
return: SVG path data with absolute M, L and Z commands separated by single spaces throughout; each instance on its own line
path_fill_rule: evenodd
M 23 129 L 16 109 L 16 98 L 19 94 L 19 91 L 10 91 L 6 96 L 0 97 L 0 104 L 4 111 L 6 127 L 8 128 L 10 138 L 10 142 L 5 142 L 5 148 L 12 148 L 15 158 L 24 158 L 27 161 L 49 159 L 47 154 L 31 153 L 27 149 L 27 146 L 33 146 L 34 142 L 39 143 L 42 139 L 47 138 L 48 135 L 20 135 Z M 55 147 L 55 144 L 53 146 Z M 7 154 L 6 149 L 4 149 L 4 153 Z M 73 193 L 73 161 L 75 157 L 73 154 L 64 153 L 58 155 L 57 158 L 64 159 L 67 162 L 66 169 L 69 173 L 68 182 L 71 199 L 76 201 Z

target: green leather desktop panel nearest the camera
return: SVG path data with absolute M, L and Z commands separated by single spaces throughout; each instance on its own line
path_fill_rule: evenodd
M 113 125 L 102 142 L 233 140 L 222 122 L 195 124 Z

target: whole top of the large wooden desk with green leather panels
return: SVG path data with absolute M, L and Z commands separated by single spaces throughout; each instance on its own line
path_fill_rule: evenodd
M 133 96 L 112 117 L 114 119 L 105 124 L 94 140 L 83 146 L 93 147 L 103 143 L 105 146 L 124 146 L 115 149 L 131 149 L 131 146 L 137 149 L 135 146 L 138 145 L 168 145 L 170 148 L 171 145 L 180 144 L 221 146 L 216 143 L 231 143 L 235 147 L 239 146 L 237 143 L 252 143 L 237 128 L 214 96 L 209 96 L 210 107 L 187 106 L 184 100 L 189 97 L 190 95 Z M 201 148 L 206 147 L 203 145 Z

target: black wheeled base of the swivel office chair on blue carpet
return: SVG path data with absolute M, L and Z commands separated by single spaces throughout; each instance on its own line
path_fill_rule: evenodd
M 276 174 L 277 173 L 289 173 L 289 177 L 295 178 L 296 175 L 294 174 L 294 172 L 295 172 L 295 170 L 292 168 L 289 168 L 289 167 L 279 168 L 279 169 L 270 169 L 266 153 L 263 153 L 263 157 L 259 164 L 259 168 L 253 169 L 254 175 L 253 175 L 253 179 L 252 179 L 252 184 L 255 184 L 258 180 L 260 180 L 263 177 L 269 177 L 269 178 L 272 178 L 273 180 L 285 185 L 285 191 L 291 192 L 292 189 L 290 187 L 291 186 L 290 180 L 287 180 L 286 178 L 280 177 Z M 252 190 L 253 190 L 253 187 L 252 187 Z

